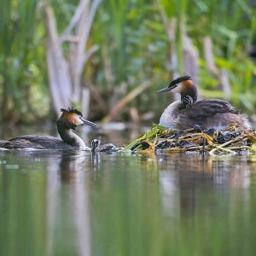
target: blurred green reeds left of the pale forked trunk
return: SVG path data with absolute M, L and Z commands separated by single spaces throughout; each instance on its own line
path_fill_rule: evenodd
M 20 119 L 20 113 L 37 118 L 49 104 L 44 61 L 44 32 L 36 0 L 3 1 L 0 14 L 1 118 Z M 42 115 L 43 114 L 43 115 Z M 25 117 L 26 118 L 26 117 Z

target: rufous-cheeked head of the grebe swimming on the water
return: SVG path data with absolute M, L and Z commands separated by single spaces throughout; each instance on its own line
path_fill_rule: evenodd
M 93 125 L 98 127 L 93 122 L 90 122 L 83 118 L 83 114 L 75 108 L 61 108 L 61 116 L 57 119 L 57 125 L 63 125 L 67 129 L 73 129 L 78 125 Z

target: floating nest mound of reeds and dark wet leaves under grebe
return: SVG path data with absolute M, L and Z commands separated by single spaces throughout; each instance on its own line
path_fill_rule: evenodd
M 199 125 L 186 131 L 153 125 L 152 130 L 138 137 L 125 149 L 142 154 L 157 152 L 249 154 L 256 152 L 256 133 L 254 130 L 236 129 L 236 125 L 231 125 L 222 131 L 202 130 Z

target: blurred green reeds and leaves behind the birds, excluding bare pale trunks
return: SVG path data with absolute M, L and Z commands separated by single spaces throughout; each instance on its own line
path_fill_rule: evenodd
M 49 1 L 59 32 L 63 32 L 78 0 Z M 9 121 L 44 118 L 51 107 L 45 57 L 46 33 L 42 1 L 3 0 L 0 10 L 0 98 L 1 119 Z M 168 22 L 177 20 L 175 44 L 179 56 L 172 67 L 162 13 Z M 204 38 L 212 39 L 218 70 L 227 76 L 230 101 L 248 113 L 256 102 L 255 62 L 249 53 L 255 43 L 256 5 L 246 0 L 105 0 L 97 10 L 90 33 L 91 44 L 100 49 L 84 67 L 84 81 L 90 81 L 108 108 L 125 94 L 152 81 L 130 107 L 139 113 L 153 111 L 156 117 L 170 101 L 154 91 L 166 86 L 174 68 L 183 75 L 183 37 L 185 32 L 198 51 L 201 94 L 224 96 L 219 77 L 208 70 Z M 65 51 L 65 49 L 64 49 Z M 96 104 L 96 102 L 92 102 Z M 26 113 L 26 115 L 22 115 Z M 29 113 L 29 114 L 28 114 Z M 93 114 L 92 114 L 93 116 Z M 95 115 L 96 116 L 96 115 Z

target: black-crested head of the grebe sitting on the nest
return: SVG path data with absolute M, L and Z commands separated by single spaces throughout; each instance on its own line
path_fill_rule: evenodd
M 181 100 L 188 108 L 197 100 L 197 89 L 191 77 L 183 76 L 173 80 L 168 87 L 157 90 L 157 93 L 172 91 L 181 95 Z

